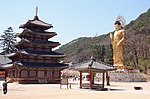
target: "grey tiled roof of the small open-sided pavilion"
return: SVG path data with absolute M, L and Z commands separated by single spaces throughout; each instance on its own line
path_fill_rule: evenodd
M 70 69 L 81 71 L 81 72 L 105 72 L 105 71 L 113 71 L 116 68 L 112 65 L 105 64 L 103 62 L 96 62 L 94 60 L 85 61 L 82 63 L 72 64 L 70 65 Z

